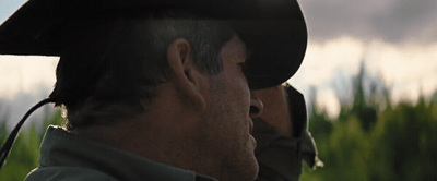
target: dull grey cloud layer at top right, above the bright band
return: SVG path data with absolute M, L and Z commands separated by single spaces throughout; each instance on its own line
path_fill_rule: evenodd
M 310 39 L 342 36 L 391 44 L 437 41 L 436 0 L 300 0 Z

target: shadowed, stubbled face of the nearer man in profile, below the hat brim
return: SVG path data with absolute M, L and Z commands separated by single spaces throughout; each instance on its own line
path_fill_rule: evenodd
M 209 147 L 204 152 L 213 155 L 220 180 L 253 180 L 258 173 L 256 141 L 250 135 L 253 126 L 249 118 L 250 92 L 240 67 L 246 61 L 246 51 L 245 44 L 234 36 L 221 50 L 223 71 L 209 77 L 201 130 Z

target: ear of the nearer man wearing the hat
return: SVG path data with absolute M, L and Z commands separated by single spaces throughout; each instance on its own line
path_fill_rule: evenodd
M 204 110 L 205 100 L 201 93 L 201 74 L 193 62 L 190 43 L 185 38 L 175 39 L 167 48 L 167 61 L 170 68 L 170 80 L 177 92 L 194 109 Z

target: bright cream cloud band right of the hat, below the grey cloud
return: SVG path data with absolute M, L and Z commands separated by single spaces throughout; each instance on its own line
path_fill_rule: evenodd
M 382 40 L 363 44 L 354 38 L 335 38 L 323 43 L 309 41 L 305 60 L 297 73 L 288 80 L 309 100 L 310 87 L 320 92 L 340 88 L 350 97 L 352 76 L 364 61 L 366 74 L 380 77 L 390 88 L 393 102 L 429 98 L 437 90 L 437 43 L 428 46 L 393 45 Z M 329 95 L 331 96 L 331 95 Z M 320 96 L 320 101 L 331 97 Z M 324 100 L 323 100 L 324 99 Z M 343 97 L 340 97 L 342 101 Z M 331 105 L 332 106 L 332 105 Z M 335 112 L 336 108 L 327 107 Z

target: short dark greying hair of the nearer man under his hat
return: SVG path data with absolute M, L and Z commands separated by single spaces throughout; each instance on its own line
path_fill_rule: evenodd
M 176 38 L 191 44 L 200 71 L 220 73 L 220 50 L 234 34 L 226 23 L 206 20 L 121 19 L 92 26 L 94 34 L 61 56 L 50 95 L 67 109 L 68 130 L 144 112 L 143 104 L 156 96 L 156 85 L 168 79 L 166 50 Z

